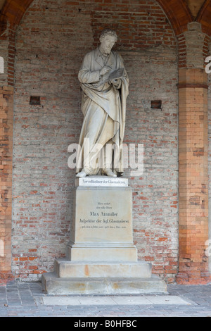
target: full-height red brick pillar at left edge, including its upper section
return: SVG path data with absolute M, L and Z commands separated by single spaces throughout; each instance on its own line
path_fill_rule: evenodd
M 14 32 L 1 36 L 6 51 L 0 76 L 0 284 L 11 275 L 11 223 L 13 176 L 13 63 Z

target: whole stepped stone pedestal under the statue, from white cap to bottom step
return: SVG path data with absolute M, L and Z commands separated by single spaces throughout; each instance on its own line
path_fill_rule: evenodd
M 132 189 L 125 178 L 90 176 L 75 182 L 75 217 L 67 258 L 42 276 L 49 294 L 140 294 L 166 292 L 151 276 L 151 263 L 137 261 L 133 243 Z

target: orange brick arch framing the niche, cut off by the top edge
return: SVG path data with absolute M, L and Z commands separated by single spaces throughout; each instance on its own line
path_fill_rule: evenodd
M 180 35 L 193 20 L 191 11 L 183 0 L 157 0 L 172 24 L 175 35 Z M 17 26 L 33 0 L 6 0 L 0 15 L 1 30 L 4 31 L 6 20 Z M 209 1 L 208 1 L 209 2 Z M 211 6 L 211 5 L 210 5 Z M 211 33 L 211 24 L 210 24 Z

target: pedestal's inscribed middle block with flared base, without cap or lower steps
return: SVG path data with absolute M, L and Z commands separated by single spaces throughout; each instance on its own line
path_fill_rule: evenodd
M 70 261 L 137 261 L 130 187 L 77 187 Z

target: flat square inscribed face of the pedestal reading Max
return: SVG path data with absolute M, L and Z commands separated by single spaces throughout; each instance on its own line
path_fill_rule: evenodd
M 132 242 L 130 189 L 78 188 L 75 242 Z

